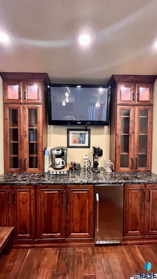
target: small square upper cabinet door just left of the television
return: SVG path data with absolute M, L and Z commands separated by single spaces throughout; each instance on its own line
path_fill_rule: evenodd
M 23 103 L 42 104 L 42 81 L 23 81 Z

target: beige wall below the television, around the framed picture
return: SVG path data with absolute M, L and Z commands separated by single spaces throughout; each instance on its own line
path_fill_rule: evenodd
M 48 146 L 67 146 L 67 128 L 62 126 L 48 126 Z M 78 129 L 78 127 L 76 128 Z M 83 164 L 83 157 L 88 155 L 92 164 L 92 146 L 98 145 L 103 149 L 103 156 L 99 158 L 99 166 L 103 167 L 103 158 L 109 158 L 110 129 L 106 127 L 91 127 L 91 148 L 68 148 L 68 163 L 71 161 Z

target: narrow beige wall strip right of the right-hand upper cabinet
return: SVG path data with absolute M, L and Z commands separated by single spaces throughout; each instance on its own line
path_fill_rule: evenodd
M 152 172 L 157 174 L 157 79 L 154 83 Z

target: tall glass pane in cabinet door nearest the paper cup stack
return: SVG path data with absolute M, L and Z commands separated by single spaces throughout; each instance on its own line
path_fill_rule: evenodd
M 38 168 L 38 117 L 37 109 L 28 109 L 28 168 Z

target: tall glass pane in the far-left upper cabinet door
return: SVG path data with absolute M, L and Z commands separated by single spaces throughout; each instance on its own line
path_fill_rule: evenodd
M 19 168 L 18 109 L 9 109 L 9 164 L 10 169 Z

